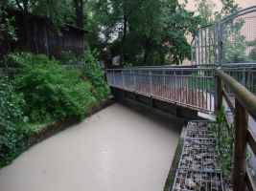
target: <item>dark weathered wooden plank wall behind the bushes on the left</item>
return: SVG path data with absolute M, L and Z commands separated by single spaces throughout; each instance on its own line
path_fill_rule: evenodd
M 29 32 L 26 32 L 23 13 L 8 12 L 8 17 L 13 16 L 15 19 L 13 24 L 18 40 L 13 41 L 7 32 L 2 32 L 4 39 L 0 41 L 0 56 L 25 48 L 32 53 L 44 53 L 56 58 L 60 58 L 62 51 L 71 51 L 76 55 L 83 52 L 84 30 L 65 25 L 57 32 L 51 27 L 49 20 L 29 14 Z

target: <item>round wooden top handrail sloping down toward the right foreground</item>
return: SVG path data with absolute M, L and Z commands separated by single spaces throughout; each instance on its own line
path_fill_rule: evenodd
M 233 77 L 221 71 L 220 68 L 217 68 L 215 71 L 224 83 L 233 91 L 251 117 L 256 119 L 256 96 L 244 88 L 244 86 L 237 82 Z

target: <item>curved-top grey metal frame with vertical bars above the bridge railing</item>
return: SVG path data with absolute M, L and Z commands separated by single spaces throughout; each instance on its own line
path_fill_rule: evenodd
M 225 60 L 226 26 L 237 22 L 246 14 L 256 12 L 256 6 L 237 11 L 222 18 L 219 22 L 198 29 L 191 42 L 191 65 L 223 65 Z M 251 38 L 256 38 L 256 32 Z M 250 34 L 251 35 L 251 34 Z M 214 58 L 214 59 L 212 59 Z M 255 60 L 254 60 L 255 61 Z M 228 62 L 228 65 L 231 63 Z

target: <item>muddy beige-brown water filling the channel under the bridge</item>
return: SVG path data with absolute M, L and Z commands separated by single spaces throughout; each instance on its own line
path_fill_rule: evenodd
M 2 168 L 0 190 L 163 190 L 182 123 L 129 101 L 115 103 Z

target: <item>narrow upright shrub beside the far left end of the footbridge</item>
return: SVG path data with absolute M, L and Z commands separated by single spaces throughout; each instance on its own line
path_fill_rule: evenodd
M 105 73 L 100 68 L 97 54 L 87 49 L 80 58 L 81 74 L 85 80 L 89 80 L 92 84 L 92 93 L 98 100 L 103 102 L 109 95 L 110 90 L 105 82 Z

